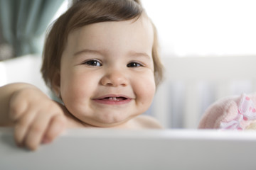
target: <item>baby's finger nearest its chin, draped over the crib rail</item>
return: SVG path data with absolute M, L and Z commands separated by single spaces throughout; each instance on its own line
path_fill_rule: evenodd
M 55 115 L 51 120 L 48 128 L 43 136 L 43 143 L 52 142 L 55 137 L 58 137 L 65 130 L 66 118 L 63 115 Z

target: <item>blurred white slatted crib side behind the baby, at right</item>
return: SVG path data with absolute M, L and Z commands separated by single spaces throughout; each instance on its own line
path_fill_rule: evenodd
M 165 81 L 156 92 L 151 114 L 166 128 L 196 128 L 213 101 L 256 91 L 255 56 L 164 57 L 163 63 Z M 180 125 L 174 125 L 176 121 Z

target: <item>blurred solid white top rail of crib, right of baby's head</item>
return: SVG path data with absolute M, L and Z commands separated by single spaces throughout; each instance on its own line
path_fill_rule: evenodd
M 256 56 L 163 57 L 167 79 L 226 81 L 255 79 Z

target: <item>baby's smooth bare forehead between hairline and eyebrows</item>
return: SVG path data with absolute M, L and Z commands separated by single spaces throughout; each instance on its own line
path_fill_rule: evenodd
M 64 53 L 97 51 L 107 55 L 145 53 L 151 57 L 154 31 L 149 19 L 93 23 L 73 30 L 68 36 Z M 100 52 L 99 52 L 100 51 Z

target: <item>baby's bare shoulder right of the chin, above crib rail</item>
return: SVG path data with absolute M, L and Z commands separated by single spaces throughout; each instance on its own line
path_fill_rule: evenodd
M 145 129 L 160 129 L 163 128 L 156 118 L 153 118 L 149 115 L 139 115 L 134 118 L 134 123 L 139 128 Z

